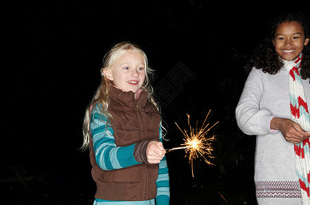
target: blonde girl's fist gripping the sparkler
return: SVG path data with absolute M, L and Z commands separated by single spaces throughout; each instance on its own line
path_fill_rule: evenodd
M 163 147 L 163 143 L 160 141 L 152 140 L 147 145 L 146 157 L 150 164 L 158 164 L 165 156 L 166 150 Z

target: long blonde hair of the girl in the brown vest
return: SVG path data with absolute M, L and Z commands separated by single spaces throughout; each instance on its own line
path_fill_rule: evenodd
M 154 70 L 152 70 L 148 64 L 147 64 L 147 56 L 145 55 L 144 51 L 137 46 L 136 44 L 132 44 L 130 42 L 119 42 L 115 46 L 106 53 L 104 56 L 103 60 L 103 66 L 101 71 L 102 74 L 102 79 L 99 87 L 97 88 L 97 91 L 95 92 L 95 95 L 93 96 L 93 99 L 89 103 L 85 115 L 84 115 L 84 123 L 83 123 L 83 135 L 84 135 L 84 141 L 82 145 L 82 150 L 87 150 L 89 147 L 89 141 L 91 139 L 91 129 L 90 129 L 90 124 L 91 124 L 91 109 L 93 106 L 95 106 L 96 103 L 99 105 L 102 105 L 100 109 L 100 113 L 104 118 L 106 118 L 106 124 L 111 125 L 110 119 L 112 116 L 110 113 L 108 113 L 108 105 L 110 103 L 109 97 L 110 97 L 110 86 L 112 85 L 112 82 L 109 81 L 105 76 L 104 76 L 104 70 L 110 68 L 121 55 L 126 53 L 126 51 L 136 51 L 139 52 L 143 59 L 144 59 L 144 64 L 145 64 L 145 80 L 143 82 L 143 85 L 141 87 L 142 90 L 145 90 L 148 93 L 148 100 L 152 102 L 152 104 L 157 108 L 159 112 L 159 107 L 157 103 L 154 100 L 153 97 L 153 88 L 152 85 L 150 84 L 150 78 L 154 76 Z M 103 119 L 102 119 L 103 120 Z M 161 123 L 160 123 L 161 124 Z

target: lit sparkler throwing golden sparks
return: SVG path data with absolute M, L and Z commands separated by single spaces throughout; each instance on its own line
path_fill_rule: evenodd
M 208 111 L 208 115 L 210 112 L 211 110 Z M 208 118 L 208 115 L 206 115 L 206 118 Z M 178 128 L 184 135 L 184 143 L 182 143 L 181 146 L 178 148 L 172 148 L 167 150 L 167 152 L 171 152 L 173 150 L 185 149 L 186 153 L 185 157 L 189 157 L 189 163 L 191 163 L 191 174 L 193 175 L 193 160 L 199 158 L 200 156 L 202 156 L 202 158 L 208 165 L 214 165 L 213 163 L 208 161 L 208 159 L 206 159 L 204 154 L 207 154 L 209 158 L 213 158 L 211 153 L 211 151 L 213 151 L 211 142 L 215 140 L 215 136 L 213 135 L 212 137 L 207 137 L 206 134 L 218 122 L 213 124 L 213 126 L 208 127 L 209 124 L 206 124 L 206 118 L 205 118 L 204 123 L 200 128 L 197 127 L 198 122 L 196 123 L 195 128 L 192 128 L 191 125 L 189 124 L 189 118 L 190 115 L 187 114 L 187 123 L 189 125 L 189 131 L 187 131 L 186 129 L 182 131 L 180 126 L 178 126 L 178 124 L 175 122 L 176 126 L 178 126 Z

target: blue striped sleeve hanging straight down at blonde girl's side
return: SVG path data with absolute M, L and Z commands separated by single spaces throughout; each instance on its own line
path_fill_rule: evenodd
M 159 130 L 159 141 L 163 142 L 163 133 Z M 157 196 L 156 204 L 169 204 L 170 187 L 169 187 L 169 174 L 166 156 L 158 164 L 158 178 L 156 180 Z

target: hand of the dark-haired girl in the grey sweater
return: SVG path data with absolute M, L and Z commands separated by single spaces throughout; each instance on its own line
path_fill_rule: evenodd
M 286 141 L 300 143 L 310 137 L 310 132 L 304 131 L 300 125 L 286 118 L 273 118 L 270 128 L 281 131 Z

